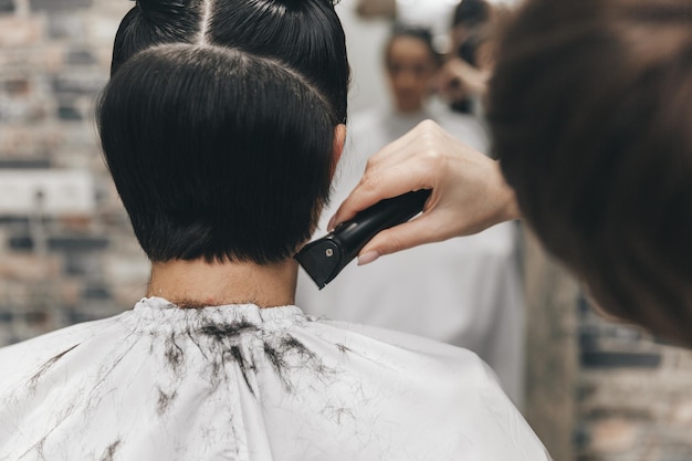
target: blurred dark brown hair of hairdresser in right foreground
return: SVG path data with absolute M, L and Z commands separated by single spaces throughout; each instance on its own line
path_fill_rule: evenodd
M 530 1 L 489 117 L 547 249 L 606 311 L 692 345 L 692 4 Z

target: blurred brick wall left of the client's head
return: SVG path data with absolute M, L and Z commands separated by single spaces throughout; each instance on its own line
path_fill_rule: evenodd
M 123 311 L 148 263 L 99 155 L 93 102 L 132 7 L 114 0 L 0 0 L 0 172 L 82 171 L 93 211 L 0 212 L 0 343 Z M 3 190 L 0 201 L 19 192 Z M 48 199 L 46 199 L 48 200 Z

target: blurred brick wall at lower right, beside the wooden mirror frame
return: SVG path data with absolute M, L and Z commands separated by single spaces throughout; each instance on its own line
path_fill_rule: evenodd
M 578 303 L 579 461 L 692 460 L 692 354 Z

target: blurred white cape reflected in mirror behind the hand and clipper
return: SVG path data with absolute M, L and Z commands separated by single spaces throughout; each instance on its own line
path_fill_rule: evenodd
M 370 156 L 427 118 L 458 139 L 487 153 L 476 118 L 443 107 L 402 115 L 374 109 L 352 117 L 332 206 L 315 237 L 356 186 Z M 407 332 L 465 347 L 497 374 L 517 406 L 524 396 L 524 295 L 518 270 L 517 229 L 501 223 L 475 235 L 427 244 L 348 265 L 318 291 L 301 271 L 296 294 L 305 312 L 339 321 Z

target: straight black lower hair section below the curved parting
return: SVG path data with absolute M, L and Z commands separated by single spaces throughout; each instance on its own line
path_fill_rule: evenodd
M 336 115 L 271 59 L 149 48 L 113 75 L 97 114 L 107 165 L 154 262 L 285 260 L 327 201 Z

